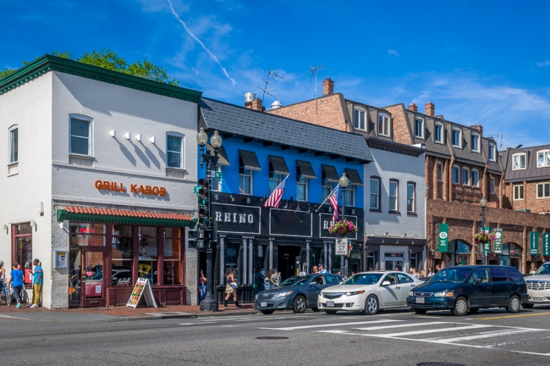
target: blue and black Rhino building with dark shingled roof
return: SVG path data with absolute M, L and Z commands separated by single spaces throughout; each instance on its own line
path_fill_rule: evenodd
M 239 279 L 243 302 L 252 301 L 252 278 L 259 268 L 278 268 L 283 279 L 311 272 L 320 263 L 332 272 L 360 270 L 363 172 L 364 164 L 373 161 L 364 138 L 207 98 L 199 107 L 199 128 L 209 136 L 219 131 L 222 138 L 223 177 L 212 189 L 211 211 L 219 235 L 214 251 L 219 295 L 223 273 L 230 266 Z M 212 154 L 210 146 L 206 149 Z M 356 245 L 347 258 L 335 255 L 337 235 L 327 230 L 333 209 L 328 201 L 322 204 L 343 173 L 350 183 L 344 195 L 340 189 L 340 213 L 345 200 L 345 217 L 359 228 L 348 234 Z M 199 166 L 199 178 L 205 175 L 206 169 Z M 263 207 L 283 180 L 278 208 Z M 206 268 L 203 256 L 198 266 Z

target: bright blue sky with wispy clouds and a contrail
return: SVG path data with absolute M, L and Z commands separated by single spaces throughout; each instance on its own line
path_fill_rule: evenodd
M 267 92 L 314 98 L 307 72 L 383 107 L 427 102 L 481 123 L 499 149 L 550 143 L 547 1 L 0 0 L 0 69 L 52 50 L 110 48 L 168 69 L 181 86 L 243 105 Z M 269 107 L 276 100 L 265 96 Z

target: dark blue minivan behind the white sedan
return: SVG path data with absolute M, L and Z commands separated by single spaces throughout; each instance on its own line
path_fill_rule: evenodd
M 528 299 L 527 284 L 514 267 L 456 266 L 410 291 L 407 306 L 416 314 L 448 309 L 461 316 L 487 308 L 518 312 Z

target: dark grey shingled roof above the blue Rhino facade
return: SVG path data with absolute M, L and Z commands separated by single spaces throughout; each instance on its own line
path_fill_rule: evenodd
M 276 146 L 326 153 L 333 158 L 372 162 L 373 155 L 363 136 L 339 131 L 201 98 L 199 127 L 217 129 L 222 134 L 250 138 L 258 142 L 273 142 Z

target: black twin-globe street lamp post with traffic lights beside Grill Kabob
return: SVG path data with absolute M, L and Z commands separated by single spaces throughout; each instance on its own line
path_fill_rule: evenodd
M 199 155 L 201 162 L 201 169 L 204 164 L 206 164 L 206 181 L 208 182 L 208 215 L 212 212 L 210 210 L 211 198 L 212 198 L 212 169 L 214 171 L 218 170 L 218 151 L 221 147 L 221 136 L 219 136 L 218 131 L 214 131 L 214 134 L 210 138 L 210 145 L 214 148 L 214 155 L 208 155 L 208 151 L 204 151 L 205 145 L 208 142 L 208 135 L 204 132 L 204 129 L 201 127 L 197 133 L 197 143 L 201 147 L 201 153 Z M 208 221 L 208 224 L 205 228 L 205 231 L 210 231 L 208 237 L 205 235 L 206 240 L 206 295 L 204 300 L 201 301 L 201 310 L 206 312 L 217 312 L 218 311 L 218 301 L 214 298 L 214 268 L 212 266 L 212 246 L 218 241 L 217 230 L 212 230 L 214 224 L 212 218 Z

